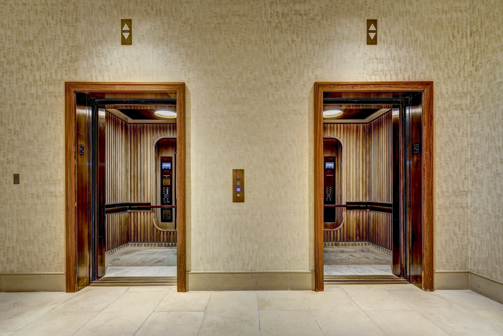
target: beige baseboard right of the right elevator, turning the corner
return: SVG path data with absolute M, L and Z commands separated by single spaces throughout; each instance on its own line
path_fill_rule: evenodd
M 503 303 L 503 283 L 471 271 L 435 271 L 435 290 L 466 290 Z

